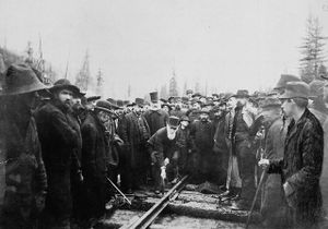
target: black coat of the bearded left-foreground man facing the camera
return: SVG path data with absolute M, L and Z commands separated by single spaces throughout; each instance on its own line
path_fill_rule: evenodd
M 73 155 L 81 140 L 70 123 L 69 113 L 58 100 L 49 101 L 35 113 L 49 188 L 45 224 L 54 221 L 54 217 L 68 220 L 71 215 L 71 164 L 77 159 Z

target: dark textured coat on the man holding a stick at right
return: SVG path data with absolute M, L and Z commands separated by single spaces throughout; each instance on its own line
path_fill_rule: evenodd
M 293 209 L 294 226 L 311 228 L 321 214 L 319 179 L 324 157 L 324 132 L 315 116 L 305 109 L 288 129 L 284 157 L 271 160 L 270 172 L 280 172 L 282 182 L 290 184 L 285 197 Z

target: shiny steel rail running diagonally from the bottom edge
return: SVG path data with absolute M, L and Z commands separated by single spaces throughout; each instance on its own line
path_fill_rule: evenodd
M 162 213 L 162 210 L 168 205 L 171 201 L 174 201 L 179 192 L 185 188 L 186 181 L 189 176 L 185 176 L 178 183 L 176 183 L 154 206 L 152 206 L 140 218 L 132 219 L 128 225 L 120 227 L 120 229 L 145 229 L 155 218 Z

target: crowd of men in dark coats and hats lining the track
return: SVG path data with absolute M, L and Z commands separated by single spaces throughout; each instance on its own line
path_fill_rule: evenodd
M 13 64 L 0 97 L 0 228 L 89 228 L 112 183 L 160 194 L 185 174 L 249 209 L 262 171 L 262 226 L 316 228 L 325 95 L 324 80 L 284 74 L 269 93 L 126 101 L 85 97 L 66 79 L 47 87 L 39 72 Z

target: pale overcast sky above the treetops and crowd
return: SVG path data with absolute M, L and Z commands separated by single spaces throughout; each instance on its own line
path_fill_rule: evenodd
M 298 74 L 309 14 L 327 36 L 328 0 L 0 0 L 0 45 L 37 51 L 40 36 L 45 59 L 61 75 L 69 61 L 72 81 L 89 50 L 116 98 L 128 84 L 133 97 L 160 88 L 173 69 L 180 88 L 253 92 Z

